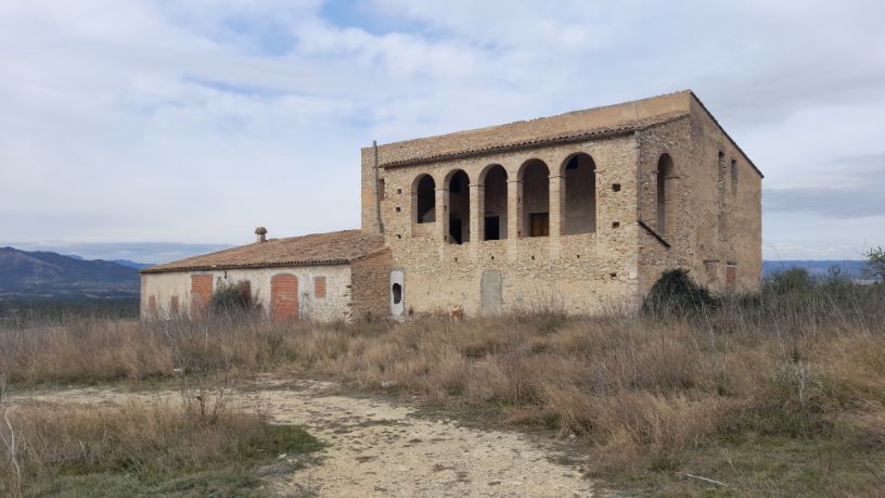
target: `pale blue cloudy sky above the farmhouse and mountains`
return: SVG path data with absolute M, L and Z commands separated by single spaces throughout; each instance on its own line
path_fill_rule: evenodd
M 692 89 L 766 259 L 885 245 L 881 1 L 0 0 L 0 245 L 161 263 L 359 226 L 359 150 Z

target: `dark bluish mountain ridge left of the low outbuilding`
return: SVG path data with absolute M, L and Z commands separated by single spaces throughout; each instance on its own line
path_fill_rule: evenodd
M 134 297 L 138 269 L 42 251 L 0 247 L 0 299 L 10 297 Z

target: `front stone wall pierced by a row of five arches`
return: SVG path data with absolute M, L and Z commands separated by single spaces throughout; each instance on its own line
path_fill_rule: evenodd
M 578 152 L 589 154 L 597 167 L 598 230 L 565 235 L 565 165 Z M 501 311 L 555 307 L 594 312 L 613 305 L 633 306 L 638 281 L 636 157 L 636 140 L 632 133 L 625 133 L 583 143 L 382 169 L 386 187 L 381 202 L 385 241 L 405 273 L 407 309 L 412 314 L 477 315 L 486 271 L 500 273 Z M 541 182 L 548 183 L 543 196 L 549 203 L 524 208 L 521 197 L 537 188 L 522 182 L 523 166 L 533 159 L 542 161 L 548 168 Z M 506 231 L 501 231 L 510 237 L 486 241 L 486 189 L 480 178 L 493 165 L 506 171 Z M 469 243 L 451 244 L 446 242 L 449 192 L 440 186 L 446 186 L 446 179 L 459 169 L 470 179 L 471 235 Z M 426 227 L 428 237 L 414 234 L 411 188 L 422 174 L 432 175 L 437 186 L 436 221 Z M 500 200 L 496 204 L 501 207 Z M 523 224 L 533 210 L 550 213 L 549 237 L 524 237 Z M 487 285 L 487 302 L 495 301 L 488 293 L 497 288 Z

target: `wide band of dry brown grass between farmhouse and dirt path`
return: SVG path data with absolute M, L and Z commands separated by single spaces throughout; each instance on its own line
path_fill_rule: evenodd
M 679 309 L 351 325 L 75 320 L 0 332 L 0 372 L 13 388 L 176 368 L 331 376 L 467 421 L 574 436 L 590 473 L 631 494 L 882 496 L 885 289 L 782 274 L 760 295 Z M 29 489 L 44 489 L 34 472 Z

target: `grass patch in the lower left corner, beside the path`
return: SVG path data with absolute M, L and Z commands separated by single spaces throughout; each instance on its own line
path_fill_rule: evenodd
M 259 484 L 252 468 L 318 444 L 298 427 L 225 411 L 213 421 L 156 401 L 97 408 L 76 404 L 11 410 L 26 496 L 229 495 Z M 17 494 L 0 461 L 0 496 Z

